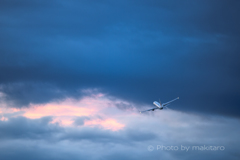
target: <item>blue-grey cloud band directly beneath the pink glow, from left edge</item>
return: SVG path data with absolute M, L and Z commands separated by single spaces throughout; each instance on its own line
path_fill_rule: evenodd
M 157 138 L 155 133 L 127 129 L 120 132 L 99 129 L 98 127 L 83 127 L 80 120 L 90 119 L 90 117 L 78 117 L 74 124 L 78 128 L 64 128 L 58 123 L 50 123 L 52 117 L 39 119 L 28 119 L 25 117 L 9 118 L 7 121 L 0 120 L 0 139 L 42 139 L 49 142 L 69 141 L 94 141 L 98 143 L 121 143 L 132 144 L 134 142 L 148 141 Z

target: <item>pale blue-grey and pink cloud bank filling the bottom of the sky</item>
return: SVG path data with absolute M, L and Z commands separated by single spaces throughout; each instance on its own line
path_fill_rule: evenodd
M 175 110 L 139 114 L 136 110 L 119 109 L 116 101 L 119 102 L 120 99 L 113 100 L 103 94 L 97 95 L 101 96 L 92 95 L 81 100 L 66 99 L 54 102 L 63 110 L 64 106 L 68 105 L 68 111 L 65 113 L 69 118 L 75 120 L 73 125 L 52 123 L 54 117 L 62 118 L 63 116 L 62 112 L 57 111 L 51 112 L 51 115 L 42 114 L 42 117 L 34 118 L 23 117 L 23 113 L 18 116 L 9 116 L 7 121 L 0 121 L 1 158 L 13 159 L 27 153 L 36 153 L 35 155 L 31 154 L 30 157 L 37 159 L 57 158 L 60 155 L 62 155 L 60 156 L 62 159 L 69 159 L 69 157 L 72 159 L 77 159 L 77 157 L 87 157 L 86 159 L 111 159 L 112 157 L 116 157 L 116 159 L 123 157 L 126 159 L 154 159 L 156 157 L 179 159 L 181 157 L 187 160 L 199 156 L 199 154 L 205 159 L 229 157 L 237 159 L 239 157 L 237 147 L 240 132 L 237 127 L 239 119 Z M 122 103 L 129 102 L 123 101 Z M 97 111 L 95 114 L 91 112 L 84 116 L 76 116 L 73 114 L 76 112 L 76 106 Z M 32 108 L 28 109 L 31 111 Z M 45 108 L 45 110 L 47 109 Z M 107 110 L 110 112 L 106 112 Z M 4 113 L 2 114 L 5 116 Z M 111 118 L 114 118 L 115 121 L 111 121 Z M 80 124 L 78 120 L 80 120 Z M 92 124 L 89 125 L 86 122 Z M 117 130 L 111 128 L 111 125 L 118 126 L 115 122 L 124 124 L 124 127 Z M 148 151 L 149 145 L 154 147 L 153 151 Z M 180 149 L 181 145 L 190 146 L 191 150 L 183 151 Z M 223 146 L 224 150 L 192 150 L 193 146 L 204 145 Z M 29 146 L 35 146 L 35 149 L 31 149 Z M 178 150 L 161 150 L 157 149 L 158 146 L 177 146 Z M 5 150 L 14 152 L 9 155 L 9 152 L 4 152 Z M 94 154 L 92 154 L 92 150 L 94 150 Z

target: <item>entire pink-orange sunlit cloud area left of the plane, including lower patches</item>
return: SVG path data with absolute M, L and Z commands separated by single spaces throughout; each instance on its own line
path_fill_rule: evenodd
M 117 120 L 120 110 L 115 106 L 115 103 L 116 100 L 110 100 L 104 94 L 99 93 L 80 100 L 67 98 L 62 101 L 42 105 L 31 104 L 28 108 L 5 108 L 0 110 L 0 113 L 18 113 L 12 115 L 21 115 L 29 119 L 51 116 L 52 121 L 50 123 L 57 123 L 64 127 L 74 127 L 75 120 L 84 116 L 90 117 L 84 121 L 84 126 L 117 131 L 123 129 L 125 125 Z M 0 120 L 6 121 L 7 118 L 2 116 Z

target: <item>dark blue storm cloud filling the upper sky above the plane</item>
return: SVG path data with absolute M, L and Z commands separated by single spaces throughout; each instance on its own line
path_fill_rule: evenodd
M 238 1 L 0 6 L 1 90 L 19 106 L 99 88 L 135 103 L 180 96 L 182 110 L 240 113 Z

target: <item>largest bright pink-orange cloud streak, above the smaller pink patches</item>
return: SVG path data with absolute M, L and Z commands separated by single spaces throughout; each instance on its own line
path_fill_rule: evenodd
M 106 99 L 85 97 L 82 100 L 75 100 L 68 98 L 61 102 L 52 102 L 44 105 L 32 104 L 29 108 L 22 109 L 22 111 L 25 111 L 23 116 L 31 119 L 45 116 L 90 116 L 106 108 L 107 103 L 109 103 L 109 101 Z

